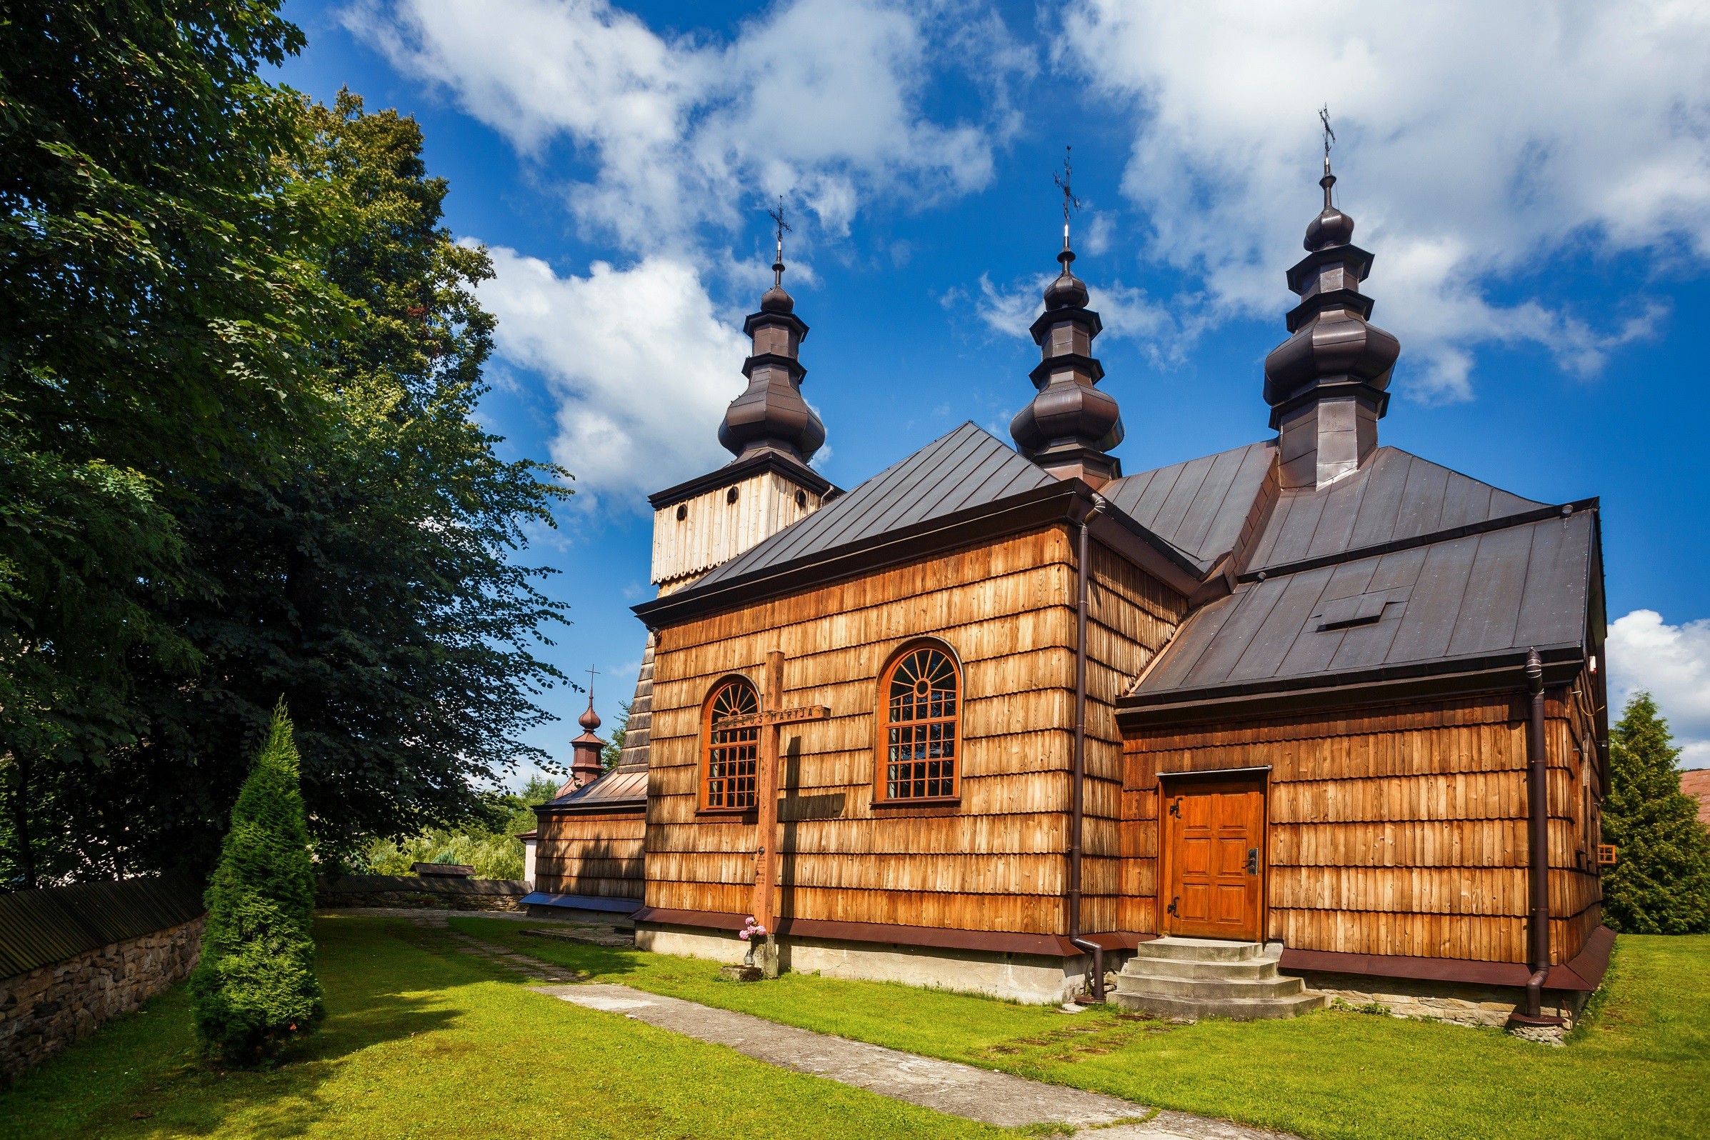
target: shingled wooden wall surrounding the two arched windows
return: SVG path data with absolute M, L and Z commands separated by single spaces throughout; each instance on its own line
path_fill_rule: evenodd
M 698 815 L 699 714 L 732 672 L 785 653 L 778 914 L 1064 930 L 1074 564 L 1064 528 L 966 547 L 658 631 L 646 902 L 744 913 L 754 819 Z M 964 667 L 959 805 L 872 805 L 879 672 L 937 636 Z

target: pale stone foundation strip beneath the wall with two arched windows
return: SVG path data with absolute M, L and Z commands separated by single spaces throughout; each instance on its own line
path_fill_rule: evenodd
M 747 943 L 735 931 L 703 926 L 636 923 L 636 949 L 655 954 L 740 964 Z M 780 967 L 855 981 L 898 981 L 908 986 L 954 990 L 1009 998 L 1028 1005 L 1060 1005 L 1086 988 L 1086 955 L 997 954 L 944 950 L 831 938 L 781 938 Z M 1106 955 L 1106 967 L 1113 955 Z

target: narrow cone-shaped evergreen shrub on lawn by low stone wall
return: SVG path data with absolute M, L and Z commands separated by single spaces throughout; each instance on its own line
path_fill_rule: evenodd
M 207 889 L 202 961 L 190 974 L 197 1037 L 227 1065 L 256 1065 L 321 1019 L 315 870 L 284 702 L 231 808 Z

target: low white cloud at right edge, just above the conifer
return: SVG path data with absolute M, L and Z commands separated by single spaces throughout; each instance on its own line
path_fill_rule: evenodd
M 1669 626 L 1655 610 L 1609 624 L 1609 716 L 1645 689 L 1669 718 L 1681 764 L 1710 767 L 1710 619 Z

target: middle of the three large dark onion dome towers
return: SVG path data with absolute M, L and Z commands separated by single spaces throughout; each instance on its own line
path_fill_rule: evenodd
M 1081 203 L 1069 190 L 1069 162 L 1057 185 L 1064 191 L 1064 248 L 1057 255 L 1062 273 L 1045 287 L 1045 311 L 1033 326 L 1040 362 L 1028 373 L 1038 393 L 1016 414 L 1009 434 L 1016 448 L 1057 479 L 1082 479 L 1103 487 L 1122 477 L 1122 460 L 1110 450 L 1122 443 L 1122 412 L 1110 393 L 1094 385 L 1105 366 L 1093 356 L 1093 338 L 1105 325 L 1086 308 L 1086 284 L 1070 272 L 1069 209 Z

